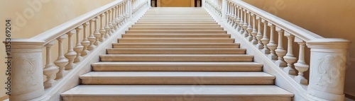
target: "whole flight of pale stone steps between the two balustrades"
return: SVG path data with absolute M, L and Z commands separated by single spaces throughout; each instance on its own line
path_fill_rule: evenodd
M 150 8 L 64 101 L 291 101 L 203 8 Z

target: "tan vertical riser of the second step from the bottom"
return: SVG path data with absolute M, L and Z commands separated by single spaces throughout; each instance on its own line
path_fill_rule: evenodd
M 84 85 L 272 85 L 273 78 L 264 77 L 84 77 Z

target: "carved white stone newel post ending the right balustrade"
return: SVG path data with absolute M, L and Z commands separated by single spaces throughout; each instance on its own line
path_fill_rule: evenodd
M 317 39 L 307 42 L 311 49 L 310 84 L 307 92 L 315 100 L 344 100 L 346 54 L 350 42 Z

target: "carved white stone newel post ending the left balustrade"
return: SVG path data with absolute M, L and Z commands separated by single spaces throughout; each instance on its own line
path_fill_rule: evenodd
M 11 40 L 11 101 L 31 100 L 44 94 L 44 42 Z

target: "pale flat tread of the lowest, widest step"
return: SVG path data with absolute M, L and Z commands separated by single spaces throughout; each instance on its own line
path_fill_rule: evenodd
M 173 96 L 186 95 L 192 88 L 201 90 L 194 93 L 195 96 L 293 97 L 293 93 L 275 85 L 78 85 L 61 96 Z

